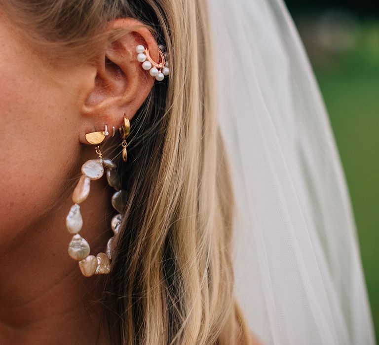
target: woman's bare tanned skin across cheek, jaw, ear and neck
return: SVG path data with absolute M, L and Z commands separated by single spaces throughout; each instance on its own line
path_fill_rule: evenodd
M 110 28 L 136 24 L 116 19 Z M 94 286 L 102 277 L 82 276 L 69 257 L 65 218 L 81 164 L 96 158 L 85 134 L 103 131 L 105 124 L 120 127 L 124 113 L 132 118 L 154 83 L 135 52 L 142 43 L 158 59 L 152 34 L 141 28 L 118 43 L 102 43 L 96 64 L 60 66 L 0 13 L 0 344 L 98 339 L 101 306 Z M 106 65 L 105 57 L 113 64 Z M 95 255 L 112 236 L 112 190 L 105 187 L 104 177 L 92 181 L 81 204 L 80 235 Z

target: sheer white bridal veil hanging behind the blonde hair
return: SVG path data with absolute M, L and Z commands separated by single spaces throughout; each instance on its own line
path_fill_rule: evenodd
M 281 0 L 208 0 L 237 217 L 236 294 L 263 344 L 375 343 L 328 117 Z

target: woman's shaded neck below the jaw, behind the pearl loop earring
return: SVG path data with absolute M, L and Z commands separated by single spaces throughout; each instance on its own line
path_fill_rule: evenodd
M 104 177 L 92 181 L 90 195 L 81 205 L 80 235 L 90 244 L 91 253 L 104 251 L 112 235 L 107 231 L 112 192 L 105 187 Z M 65 219 L 71 206 L 71 195 L 67 195 L 64 202 L 0 248 L 0 344 L 62 340 L 95 344 L 99 340 L 102 306 L 96 286 L 102 276 L 82 276 L 67 253 L 72 235 Z

